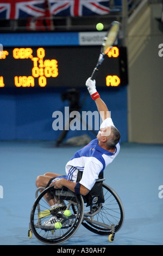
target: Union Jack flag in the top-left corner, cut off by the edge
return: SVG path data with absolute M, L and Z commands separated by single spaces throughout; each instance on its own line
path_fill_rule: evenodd
M 1 0 L 0 19 L 45 16 L 45 0 Z

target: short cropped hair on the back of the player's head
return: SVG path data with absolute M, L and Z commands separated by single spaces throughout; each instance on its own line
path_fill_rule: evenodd
M 107 137 L 106 145 L 108 149 L 114 149 L 115 145 L 120 141 L 121 139 L 121 133 L 118 131 L 118 129 L 115 126 L 111 126 L 111 133 Z

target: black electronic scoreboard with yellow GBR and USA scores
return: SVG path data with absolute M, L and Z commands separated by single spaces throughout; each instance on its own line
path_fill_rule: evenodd
M 85 87 L 101 46 L 4 47 L 0 51 L 1 88 Z M 99 69 L 98 87 L 128 84 L 127 49 L 114 46 Z

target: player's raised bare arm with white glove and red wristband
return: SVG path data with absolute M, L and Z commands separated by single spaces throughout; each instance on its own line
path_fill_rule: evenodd
M 95 100 L 98 112 L 101 115 L 102 120 L 109 118 L 110 112 L 108 110 L 108 107 L 106 106 L 105 102 L 101 99 L 96 90 L 96 81 L 92 81 L 91 78 L 88 78 L 86 81 L 86 87 L 91 95 L 91 98 Z

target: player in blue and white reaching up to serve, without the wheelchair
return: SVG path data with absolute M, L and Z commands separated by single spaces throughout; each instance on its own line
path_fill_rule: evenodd
M 114 126 L 108 107 L 106 107 L 96 90 L 96 81 L 88 78 L 86 87 L 92 100 L 95 101 L 103 121 L 97 138 L 77 151 L 72 159 L 67 162 L 65 176 L 57 173 L 39 175 L 36 179 L 36 187 L 54 186 L 55 189 L 67 187 L 77 194 L 86 196 L 105 167 L 118 155 L 120 151 L 120 132 Z M 80 180 L 78 180 L 79 174 L 82 174 Z M 52 194 L 47 193 L 46 201 L 52 209 L 60 208 L 60 210 L 64 210 L 64 201 L 54 198 Z M 54 218 L 56 217 L 51 217 L 44 224 L 54 224 L 57 221 Z

